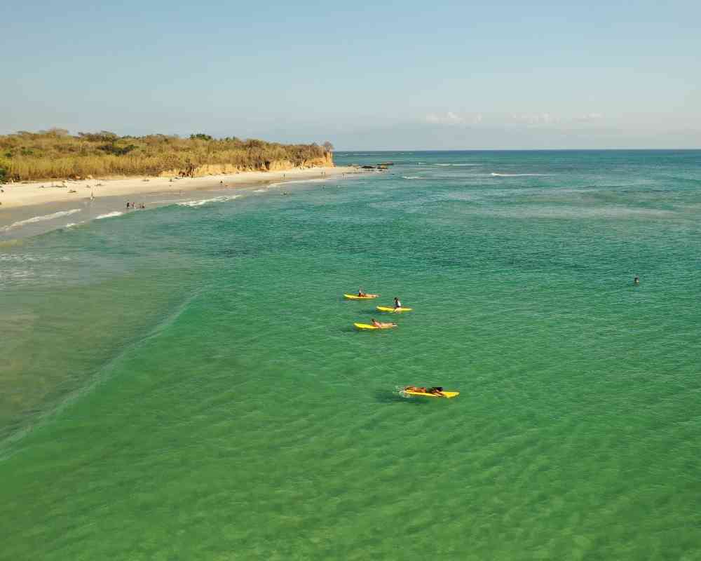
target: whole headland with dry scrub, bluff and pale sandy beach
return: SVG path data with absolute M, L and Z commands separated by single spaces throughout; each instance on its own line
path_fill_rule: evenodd
M 357 173 L 332 145 L 51 129 L 0 137 L 0 210 L 106 196 L 229 189 Z

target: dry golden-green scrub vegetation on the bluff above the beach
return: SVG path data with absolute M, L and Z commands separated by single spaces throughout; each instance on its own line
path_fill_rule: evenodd
M 200 165 L 268 170 L 273 162 L 320 163 L 332 144 L 277 144 L 204 133 L 120 137 L 109 130 L 70 135 L 61 128 L 0 135 L 0 181 L 109 175 L 191 175 Z

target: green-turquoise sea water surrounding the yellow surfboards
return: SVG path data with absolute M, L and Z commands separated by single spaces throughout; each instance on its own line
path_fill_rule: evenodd
M 701 152 L 380 161 L 0 245 L 0 559 L 701 558 Z

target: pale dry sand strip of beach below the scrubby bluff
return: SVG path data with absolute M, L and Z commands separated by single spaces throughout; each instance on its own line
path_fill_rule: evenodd
M 259 183 L 308 180 L 318 177 L 334 177 L 349 173 L 359 173 L 357 168 L 294 168 L 275 172 L 249 171 L 233 174 L 205 175 L 203 177 L 128 177 L 123 179 L 98 180 L 46 180 L 31 183 L 4 184 L 0 192 L 0 213 L 10 208 L 44 203 L 64 203 L 84 201 L 94 196 L 100 197 L 139 196 L 158 193 L 179 194 L 186 191 L 204 191 L 250 187 Z

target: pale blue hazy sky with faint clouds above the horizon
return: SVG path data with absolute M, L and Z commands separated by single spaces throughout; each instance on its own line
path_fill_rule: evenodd
M 0 5 L 0 133 L 701 148 L 701 1 Z

